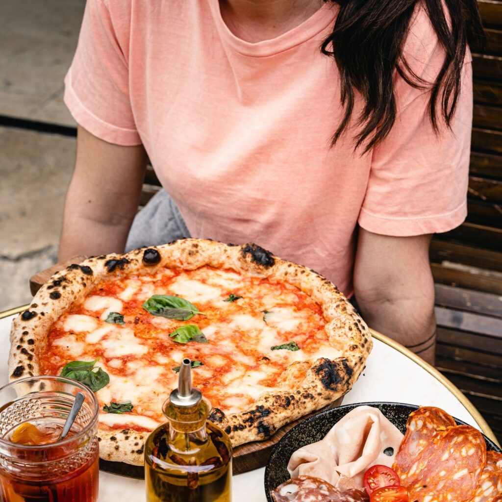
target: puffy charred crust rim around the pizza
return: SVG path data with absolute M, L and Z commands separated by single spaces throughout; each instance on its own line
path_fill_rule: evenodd
M 281 260 L 256 244 L 237 246 L 205 239 L 182 239 L 123 255 L 90 258 L 55 274 L 29 308 L 13 321 L 10 380 L 39 374 L 39 360 L 44 356 L 51 326 L 74 302 L 83 300 L 96 282 L 109 276 L 155 273 L 163 267 L 194 270 L 206 265 L 298 287 L 322 307 L 330 343 L 344 354 L 335 360 L 318 359 L 299 388 L 264 393 L 247 411 L 226 416 L 213 409 L 210 419 L 228 433 L 233 446 L 268 439 L 283 425 L 323 408 L 352 388 L 372 342 L 366 324 L 336 286 L 316 272 Z M 100 456 L 142 465 L 147 436 L 148 433 L 130 429 L 100 431 Z

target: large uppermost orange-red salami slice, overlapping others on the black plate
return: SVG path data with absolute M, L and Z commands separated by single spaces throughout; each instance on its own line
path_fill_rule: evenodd
M 408 460 L 408 459 L 407 459 Z M 438 430 L 403 470 L 401 484 L 414 502 L 470 502 L 486 463 L 486 443 L 470 425 Z

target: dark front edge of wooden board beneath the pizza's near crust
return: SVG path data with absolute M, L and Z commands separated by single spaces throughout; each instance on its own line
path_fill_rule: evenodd
M 240 446 L 236 446 L 233 449 L 232 454 L 232 474 L 240 474 L 241 472 L 247 472 L 250 470 L 258 469 L 260 467 L 265 467 L 269 460 L 270 452 L 272 448 L 279 442 L 279 440 L 295 425 L 303 422 L 305 419 L 320 413 L 321 411 L 336 408 L 340 406 L 343 401 L 343 396 L 330 405 L 326 406 L 322 410 L 315 413 L 310 413 L 305 415 L 305 417 L 299 418 L 288 425 L 285 425 L 279 429 L 270 439 L 266 441 L 255 441 L 253 443 L 247 443 Z M 130 465 L 124 462 L 110 462 L 109 460 L 99 459 L 99 468 L 105 472 L 111 472 L 112 474 L 118 474 L 119 476 L 134 477 L 137 479 L 145 478 L 145 469 L 142 465 Z

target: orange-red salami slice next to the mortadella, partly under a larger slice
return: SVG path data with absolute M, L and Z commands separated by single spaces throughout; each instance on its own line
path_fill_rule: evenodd
M 406 435 L 396 454 L 393 469 L 400 474 L 408 472 L 418 455 L 430 444 L 439 430 L 455 425 L 453 417 L 440 408 L 423 406 L 410 413 Z

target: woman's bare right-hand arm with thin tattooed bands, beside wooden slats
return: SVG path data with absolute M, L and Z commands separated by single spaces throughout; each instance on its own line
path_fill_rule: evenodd
M 370 328 L 434 363 L 436 319 L 431 235 L 391 237 L 359 229 L 354 290 Z

